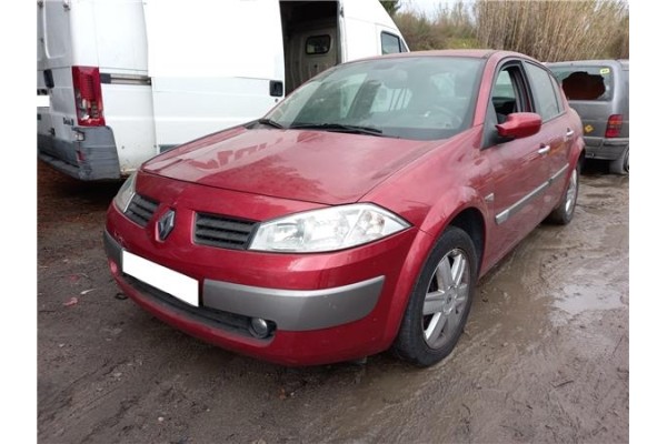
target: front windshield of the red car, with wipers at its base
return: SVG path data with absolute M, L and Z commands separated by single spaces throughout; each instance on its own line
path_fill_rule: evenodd
M 482 61 L 406 57 L 344 64 L 296 90 L 263 122 L 435 140 L 470 128 Z

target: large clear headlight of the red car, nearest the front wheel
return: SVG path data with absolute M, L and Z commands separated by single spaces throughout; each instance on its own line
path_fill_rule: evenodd
M 288 215 L 259 225 L 250 250 L 311 253 L 361 245 L 410 224 L 370 203 L 334 206 Z

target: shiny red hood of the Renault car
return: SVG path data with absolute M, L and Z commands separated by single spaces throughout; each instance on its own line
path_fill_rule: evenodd
M 143 171 L 334 205 L 359 200 L 436 145 L 434 141 L 340 132 L 236 128 L 159 155 Z

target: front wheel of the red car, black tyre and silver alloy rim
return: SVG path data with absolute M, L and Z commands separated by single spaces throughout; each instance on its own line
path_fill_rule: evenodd
M 447 276 L 450 280 L 444 282 Z M 450 226 L 421 268 L 394 352 L 418 366 L 432 365 L 447 357 L 466 326 L 476 283 L 475 245 L 464 230 Z M 428 307 L 427 294 L 430 296 Z

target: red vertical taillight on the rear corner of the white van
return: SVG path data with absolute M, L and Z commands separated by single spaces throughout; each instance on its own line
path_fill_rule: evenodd
M 79 125 L 103 127 L 104 113 L 99 68 L 72 67 L 72 81 Z

